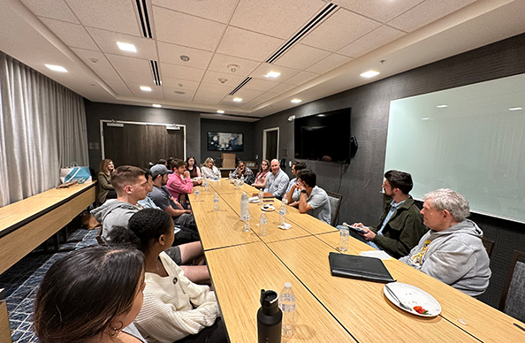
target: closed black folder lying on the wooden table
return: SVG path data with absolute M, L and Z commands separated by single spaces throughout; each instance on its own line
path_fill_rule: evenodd
M 331 275 L 336 277 L 358 278 L 385 284 L 395 281 L 383 261 L 375 257 L 330 253 L 328 259 Z

